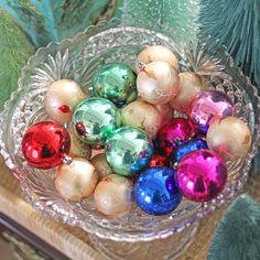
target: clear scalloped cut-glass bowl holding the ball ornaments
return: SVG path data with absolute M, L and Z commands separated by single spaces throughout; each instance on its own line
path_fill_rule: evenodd
M 143 28 L 101 23 L 72 40 L 40 48 L 23 68 L 18 90 L 12 94 L 0 115 L 1 154 L 21 181 L 25 197 L 33 207 L 100 238 L 137 242 L 166 238 L 236 197 L 247 181 L 251 160 L 257 152 L 260 100 L 257 89 L 234 66 L 225 48 L 210 50 L 207 41 L 176 44 L 174 35 L 169 37 Z M 136 206 L 131 213 L 109 219 L 96 210 L 91 197 L 82 203 L 64 201 L 55 189 L 54 171 L 33 169 L 24 161 L 21 139 L 30 124 L 48 119 L 43 100 L 50 83 L 71 78 L 78 82 L 86 95 L 90 96 L 93 75 L 102 64 L 118 61 L 134 67 L 140 50 L 154 44 L 165 45 L 177 55 L 180 71 L 204 75 L 210 88 L 225 91 L 231 98 L 238 117 L 250 128 L 252 145 L 243 160 L 228 163 L 228 182 L 216 199 L 203 204 L 183 199 L 173 213 L 161 217 L 149 216 Z

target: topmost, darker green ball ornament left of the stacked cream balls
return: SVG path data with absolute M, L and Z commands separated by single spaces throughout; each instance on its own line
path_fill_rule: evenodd
M 131 67 L 122 63 L 109 63 L 94 76 L 94 95 L 111 100 L 122 107 L 137 99 L 137 76 Z

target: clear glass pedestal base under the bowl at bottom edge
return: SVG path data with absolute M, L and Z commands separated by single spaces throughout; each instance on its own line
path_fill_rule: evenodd
M 89 235 L 90 245 L 112 260 L 177 259 L 193 242 L 198 221 L 167 238 L 141 242 L 120 242 Z

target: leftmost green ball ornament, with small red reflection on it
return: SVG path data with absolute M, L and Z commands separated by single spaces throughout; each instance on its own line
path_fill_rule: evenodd
M 83 100 L 73 115 L 73 127 L 84 142 L 104 144 L 106 138 L 121 124 L 118 108 L 105 98 Z

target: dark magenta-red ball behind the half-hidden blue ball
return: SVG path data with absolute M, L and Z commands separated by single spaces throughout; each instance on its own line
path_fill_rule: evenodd
M 185 118 L 173 118 L 159 129 L 155 139 L 156 150 L 170 156 L 174 149 L 192 134 L 192 127 Z

